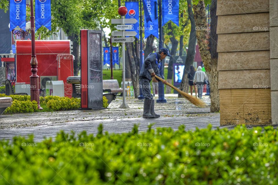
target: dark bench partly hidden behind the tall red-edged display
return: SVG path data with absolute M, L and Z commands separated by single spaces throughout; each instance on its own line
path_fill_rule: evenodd
M 72 84 L 72 97 L 74 98 L 81 98 L 81 79 L 80 77 L 67 77 L 67 83 Z M 115 93 L 105 93 L 103 92 L 103 96 L 105 96 L 108 100 L 108 104 L 111 101 L 116 99 Z

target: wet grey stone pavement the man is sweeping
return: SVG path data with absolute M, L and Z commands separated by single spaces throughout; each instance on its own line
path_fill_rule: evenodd
M 132 130 L 134 124 L 140 124 L 139 130 L 147 130 L 150 123 L 156 127 L 171 127 L 177 130 L 182 124 L 186 130 L 206 128 L 209 124 L 213 129 L 220 127 L 220 114 L 210 113 L 210 108 L 198 108 L 184 98 L 177 95 L 166 95 L 167 103 L 156 104 L 157 119 L 142 118 L 143 100 L 127 98 L 129 109 L 119 109 L 122 97 L 117 97 L 105 110 L 72 110 L 45 113 L 26 113 L 2 115 L 0 118 L 0 139 L 12 139 L 14 136 L 28 136 L 34 134 L 35 141 L 44 137 L 56 136 L 60 130 L 70 133 L 97 133 L 99 124 L 103 124 L 104 131 L 109 133 L 123 133 Z M 157 98 L 157 97 L 155 97 Z M 210 105 L 208 96 L 203 100 Z M 228 126 L 233 128 L 234 126 Z

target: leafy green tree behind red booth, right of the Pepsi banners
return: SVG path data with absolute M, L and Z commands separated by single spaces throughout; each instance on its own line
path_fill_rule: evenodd
M 74 75 L 77 75 L 80 68 L 80 30 L 106 27 L 109 24 L 106 22 L 107 18 L 113 16 L 115 12 L 114 3 L 116 1 L 51 1 L 52 31 L 42 27 L 38 30 L 37 37 L 39 34 L 42 38 L 49 37 L 62 28 L 73 43 Z

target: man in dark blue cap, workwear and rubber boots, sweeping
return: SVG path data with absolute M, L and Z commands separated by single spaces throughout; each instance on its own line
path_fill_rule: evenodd
M 154 76 L 158 76 L 161 78 L 159 74 L 159 68 L 161 66 L 161 61 L 165 59 L 166 56 L 171 57 L 171 55 L 169 54 L 169 50 L 166 48 L 161 48 L 158 52 L 149 54 L 141 68 L 139 74 L 139 84 L 140 88 L 142 88 L 143 96 L 145 98 L 143 118 L 160 117 L 160 115 L 154 112 L 154 99 L 153 95 L 151 94 L 150 82 L 152 77 Z M 167 81 L 163 80 L 162 83 L 166 84 Z

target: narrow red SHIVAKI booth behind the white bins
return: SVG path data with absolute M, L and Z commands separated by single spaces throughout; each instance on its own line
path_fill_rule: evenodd
M 72 84 L 67 83 L 67 77 L 73 76 L 73 55 L 57 55 L 58 80 L 64 81 L 65 97 L 72 97 Z

